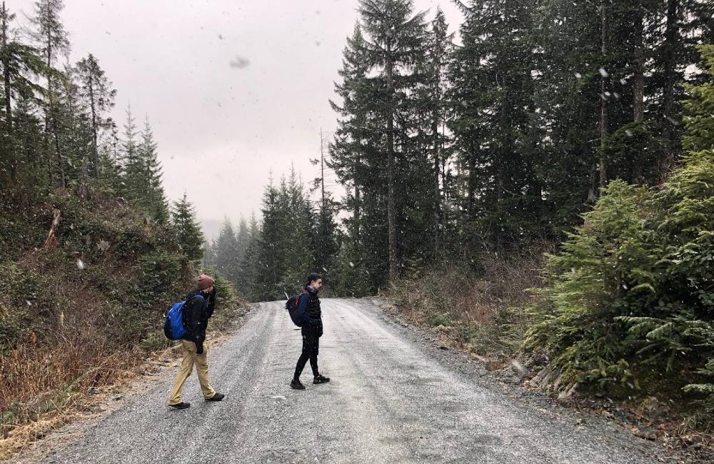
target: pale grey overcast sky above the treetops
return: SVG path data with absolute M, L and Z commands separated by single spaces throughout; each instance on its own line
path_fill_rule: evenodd
M 316 176 L 319 132 L 332 131 L 334 96 L 357 0 L 65 0 L 72 63 L 91 53 L 118 95 L 114 118 L 148 117 L 164 187 L 188 193 L 209 236 L 224 216 L 259 215 L 263 186 L 291 164 Z M 7 0 L 20 24 L 32 0 Z M 450 29 L 450 0 L 416 0 Z M 24 13 L 24 15 L 22 14 Z

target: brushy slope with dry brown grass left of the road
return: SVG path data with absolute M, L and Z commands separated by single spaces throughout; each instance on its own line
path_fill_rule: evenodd
M 0 200 L 1 439 L 167 348 L 164 311 L 196 270 L 169 228 L 121 201 Z M 56 241 L 43 246 L 55 209 Z M 212 326 L 222 328 L 243 305 L 225 281 L 217 286 Z

